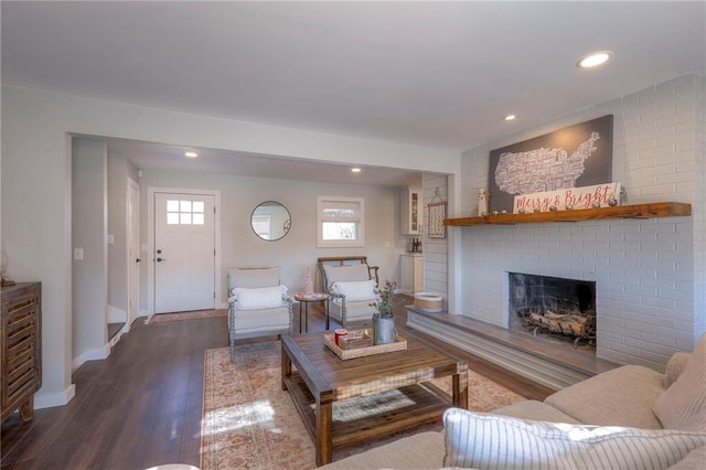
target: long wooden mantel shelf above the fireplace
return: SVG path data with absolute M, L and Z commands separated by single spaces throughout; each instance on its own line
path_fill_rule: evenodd
M 524 214 L 490 214 L 479 217 L 446 218 L 446 226 L 514 225 L 545 222 L 578 222 L 605 218 L 652 218 L 692 215 L 692 204 L 683 202 L 652 202 L 571 211 L 527 212 Z

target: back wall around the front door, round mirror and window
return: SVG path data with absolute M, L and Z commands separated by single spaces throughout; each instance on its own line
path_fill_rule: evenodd
M 396 188 L 362 184 L 329 184 L 313 181 L 240 178 L 227 174 L 194 173 L 146 169 L 140 179 L 142 188 L 142 238 L 147 243 L 147 189 L 150 186 L 205 189 L 221 191 L 221 265 L 222 286 L 227 286 L 227 269 L 232 267 L 281 266 L 282 282 L 293 291 L 303 290 L 304 271 L 317 271 L 321 256 L 364 255 L 381 267 L 384 279 L 399 279 L 399 254 L 406 237 L 399 235 L 399 197 Z M 317 247 L 317 197 L 338 195 L 365 200 L 365 246 L 355 248 Z M 291 215 L 287 236 L 266 242 L 250 227 L 250 214 L 261 202 L 282 203 Z M 151 258 L 149 254 L 146 259 Z M 147 292 L 145 270 L 141 292 Z M 317 284 L 318 286 L 318 284 Z M 225 305 L 223 289 L 220 301 Z M 147 306 L 142 297 L 141 306 Z

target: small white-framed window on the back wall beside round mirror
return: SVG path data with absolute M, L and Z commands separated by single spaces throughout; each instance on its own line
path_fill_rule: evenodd
M 364 246 L 363 197 L 319 196 L 319 247 Z

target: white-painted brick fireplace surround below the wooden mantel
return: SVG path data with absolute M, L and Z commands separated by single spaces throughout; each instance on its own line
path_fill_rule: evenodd
M 598 357 L 661 370 L 693 348 L 689 217 L 464 227 L 461 236 L 463 316 L 506 328 L 506 273 L 532 273 L 596 284 Z

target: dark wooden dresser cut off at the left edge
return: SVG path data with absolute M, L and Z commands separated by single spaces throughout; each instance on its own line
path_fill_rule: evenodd
M 1 289 L 0 420 L 17 409 L 29 420 L 34 414 L 34 393 L 42 386 L 42 284 L 18 282 Z

